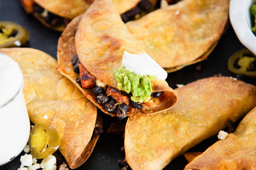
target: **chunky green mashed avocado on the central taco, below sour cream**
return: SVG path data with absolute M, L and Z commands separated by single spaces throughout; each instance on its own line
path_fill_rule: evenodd
M 156 76 L 138 75 L 129 70 L 126 70 L 123 66 L 117 70 L 114 69 L 114 75 L 116 77 L 117 87 L 119 90 L 124 90 L 126 93 L 132 93 L 131 100 L 134 102 L 147 102 L 150 99 L 152 93 L 151 80 L 154 80 Z

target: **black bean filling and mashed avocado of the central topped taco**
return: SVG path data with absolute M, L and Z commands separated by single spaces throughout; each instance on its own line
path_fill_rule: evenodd
M 73 71 L 79 74 L 76 82 L 85 89 L 91 88 L 97 103 L 103 105 L 109 113 L 116 112 L 118 119 L 122 120 L 127 111 L 133 109 L 141 110 L 144 105 L 157 107 L 159 101 L 156 99 L 164 94 L 164 91 L 152 91 L 151 80 L 156 76 L 138 75 L 121 67 L 114 70 L 118 89 L 107 86 L 91 75 L 80 63 L 78 56 L 72 59 Z M 151 98 L 155 98 L 150 100 Z

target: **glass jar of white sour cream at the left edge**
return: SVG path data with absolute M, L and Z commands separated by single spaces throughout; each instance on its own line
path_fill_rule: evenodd
M 30 122 L 23 96 L 23 75 L 18 63 L 0 53 L 0 166 L 24 149 Z

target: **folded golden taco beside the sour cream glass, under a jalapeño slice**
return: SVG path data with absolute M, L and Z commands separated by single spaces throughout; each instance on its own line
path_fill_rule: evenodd
M 22 70 L 30 121 L 56 127 L 61 137 L 59 151 L 70 168 L 80 166 L 99 138 L 91 140 L 95 122 L 102 127 L 97 108 L 55 70 L 57 61 L 48 54 L 32 48 L 1 48 L 0 52 L 17 61 Z

